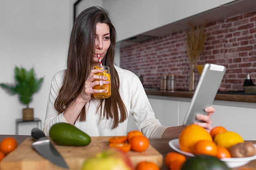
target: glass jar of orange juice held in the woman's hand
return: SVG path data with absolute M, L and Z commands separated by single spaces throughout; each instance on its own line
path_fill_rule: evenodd
M 110 76 L 110 68 L 108 66 L 102 66 L 102 67 L 98 67 L 95 66 L 94 69 L 102 69 L 104 70 L 103 73 L 95 73 L 96 75 L 99 75 L 100 78 L 96 79 L 95 81 L 100 81 L 99 85 L 96 85 L 93 87 L 93 89 L 97 89 L 97 90 L 102 90 L 105 89 L 106 92 L 104 93 L 94 93 L 93 96 L 97 99 L 106 99 L 109 98 L 111 96 L 111 76 Z M 109 84 L 103 84 L 103 77 L 108 77 L 108 79 L 106 81 L 109 81 Z

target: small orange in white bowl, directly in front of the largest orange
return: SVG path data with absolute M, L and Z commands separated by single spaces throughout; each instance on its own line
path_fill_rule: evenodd
M 216 157 L 217 153 L 217 145 L 213 141 L 202 140 L 193 146 L 193 154 L 195 155 L 211 155 Z

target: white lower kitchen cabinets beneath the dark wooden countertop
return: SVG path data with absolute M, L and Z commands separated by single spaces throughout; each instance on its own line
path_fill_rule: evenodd
M 182 125 L 191 99 L 153 95 L 149 95 L 148 98 L 156 117 L 163 125 Z M 256 140 L 256 133 L 254 133 L 256 129 L 255 103 L 217 100 L 213 102 L 213 107 L 216 108 L 216 112 L 211 115 L 213 127 L 223 126 L 229 131 L 237 132 L 244 140 Z M 169 120 L 170 124 L 166 122 Z

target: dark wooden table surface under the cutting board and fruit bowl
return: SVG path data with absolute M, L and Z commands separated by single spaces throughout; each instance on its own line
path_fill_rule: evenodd
M 5 137 L 13 137 L 17 140 L 18 144 L 21 144 L 22 141 L 24 141 L 25 139 L 31 137 L 29 135 L 0 135 L 0 141 L 2 141 L 2 139 L 4 139 Z M 168 152 L 173 152 L 174 150 L 172 148 L 170 148 L 170 146 L 168 145 L 168 142 L 170 141 L 169 139 L 149 139 L 150 144 L 156 149 L 158 150 L 158 152 L 160 152 L 163 157 L 165 157 L 165 155 Z M 253 141 L 255 142 L 255 141 Z M 247 165 L 242 166 L 243 168 L 252 168 L 255 169 L 256 168 L 256 160 L 249 162 Z M 242 167 L 238 167 L 238 168 L 234 168 L 232 170 L 239 170 L 239 168 Z M 164 165 L 163 163 L 163 168 L 162 170 L 168 170 L 168 168 Z M 256 170 L 256 169 L 255 169 Z

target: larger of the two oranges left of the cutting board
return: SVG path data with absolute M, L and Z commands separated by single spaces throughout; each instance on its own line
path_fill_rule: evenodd
M 0 150 L 4 152 L 4 154 L 8 154 L 9 152 L 13 151 L 17 148 L 18 144 L 16 139 L 13 137 L 6 137 L 1 141 Z

